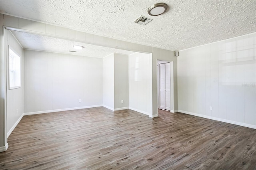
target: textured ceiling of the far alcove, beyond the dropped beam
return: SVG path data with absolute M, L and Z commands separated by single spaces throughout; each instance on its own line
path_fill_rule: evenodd
M 81 55 L 87 57 L 105 57 L 110 53 L 121 53 L 130 55 L 133 51 L 126 51 L 121 49 L 114 49 L 109 47 L 101 47 L 97 45 L 90 45 L 86 43 L 68 41 L 58 38 L 41 36 L 37 34 L 30 34 L 25 32 L 12 31 L 12 34 L 17 38 L 23 48 L 34 49 L 39 51 L 49 51 L 57 53 L 67 53 L 72 55 Z M 74 49 L 73 45 L 82 45 L 83 49 Z M 76 51 L 76 52 L 69 52 Z

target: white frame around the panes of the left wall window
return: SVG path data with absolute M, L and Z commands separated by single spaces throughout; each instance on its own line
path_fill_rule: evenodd
M 17 76 L 17 74 L 19 74 L 19 77 L 18 77 L 18 81 L 19 81 L 19 84 L 20 85 L 15 85 L 15 83 L 14 83 L 14 86 L 11 86 L 11 81 L 10 81 L 10 50 L 12 50 L 12 52 L 14 52 L 19 58 L 20 58 L 20 63 L 19 63 L 19 73 L 16 73 L 17 71 L 16 71 L 16 67 L 15 67 L 15 64 L 17 64 L 16 62 L 15 62 L 15 58 L 13 58 L 13 61 L 12 61 L 12 63 L 14 64 L 13 65 L 13 67 L 14 68 L 12 68 L 12 72 L 13 72 L 13 81 L 15 82 L 15 76 Z M 9 84 L 9 90 L 12 90 L 12 89 L 18 89 L 18 88 L 20 88 L 21 87 L 21 57 L 20 57 L 20 55 L 10 46 L 10 45 L 8 45 L 8 84 Z

